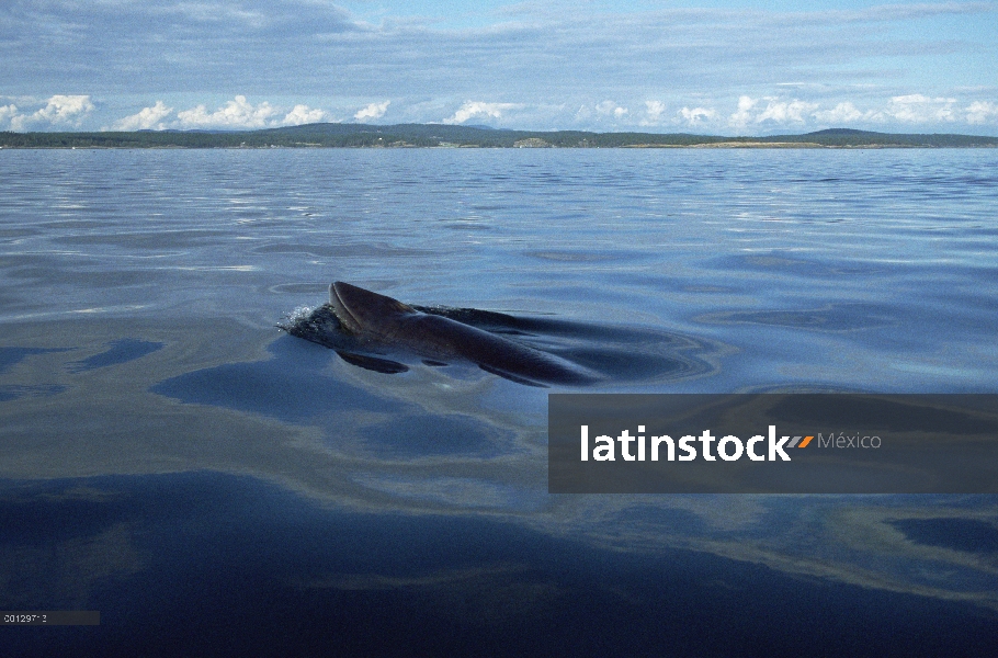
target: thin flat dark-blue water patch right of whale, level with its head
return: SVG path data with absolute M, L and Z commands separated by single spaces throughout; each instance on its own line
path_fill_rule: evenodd
M 896 324 L 895 315 L 872 304 L 828 304 L 801 310 L 735 310 L 694 318 L 710 325 L 763 325 L 813 331 L 854 331 Z

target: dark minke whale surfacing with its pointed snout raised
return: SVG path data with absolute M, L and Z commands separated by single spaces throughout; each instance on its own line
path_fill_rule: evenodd
M 328 304 L 283 328 L 336 350 L 348 363 L 381 373 L 408 371 L 404 363 L 385 358 L 406 352 L 427 365 L 470 363 L 531 386 L 581 386 L 601 378 L 556 354 L 426 310 L 337 281 L 329 286 Z

